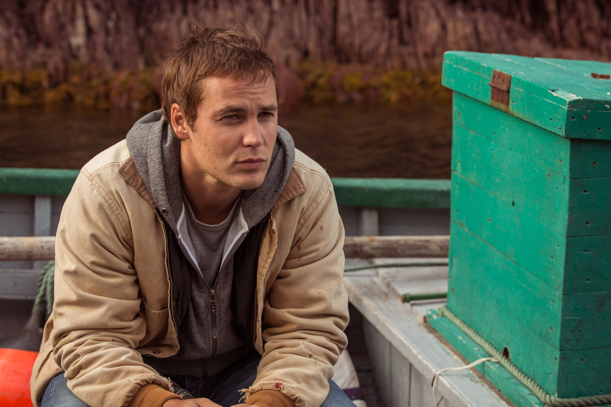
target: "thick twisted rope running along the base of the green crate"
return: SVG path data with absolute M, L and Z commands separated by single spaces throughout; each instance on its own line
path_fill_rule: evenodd
M 611 403 L 611 394 L 593 395 L 588 397 L 574 397 L 574 398 L 558 398 L 554 397 L 546 392 L 543 387 L 539 386 L 536 381 L 532 380 L 526 373 L 522 372 L 518 366 L 513 364 L 509 359 L 505 358 L 503 354 L 494 347 L 488 340 L 484 339 L 483 336 L 477 333 L 473 328 L 467 325 L 466 322 L 457 317 L 452 311 L 446 306 L 442 306 L 437 309 L 437 315 L 446 317 L 452 321 L 454 325 L 458 326 L 464 333 L 480 345 L 486 352 L 492 357 L 499 359 L 499 363 L 505 367 L 516 379 L 521 381 L 524 386 L 528 387 L 536 397 L 546 405 L 552 407 L 580 407 L 580 406 L 598 406 L 601 404 Z

